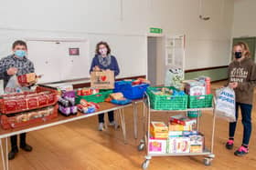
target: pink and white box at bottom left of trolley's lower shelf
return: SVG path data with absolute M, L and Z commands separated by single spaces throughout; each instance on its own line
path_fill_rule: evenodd
M 166 153 L 166 140 L 149 139 L 149 153 L 150 154 L 165 154 Z

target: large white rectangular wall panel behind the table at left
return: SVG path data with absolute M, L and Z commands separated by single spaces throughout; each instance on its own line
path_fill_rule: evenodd
M 70 55 L 69 49 L 79 49 Z M 34 63 L 38 83 L 90 77 L 88 40 L 28 40 L 27 57 Z

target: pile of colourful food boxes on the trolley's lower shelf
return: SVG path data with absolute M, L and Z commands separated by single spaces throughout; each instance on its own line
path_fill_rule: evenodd
M 168 126 L 164 122 L 151 122 L 150 154 L 202 153 L 204 135 L 194 131 L 196 119 L 184 115 L 170 117 Z

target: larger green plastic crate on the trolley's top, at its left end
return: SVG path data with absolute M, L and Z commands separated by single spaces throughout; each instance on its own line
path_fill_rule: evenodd
M 148 87 L 146 93 L 150 98 L 150 107 L 155 110 L 186 110 L 187 109 L 187 95 L 155 95 L 153 91 L 158 88 L 169 88 L 177 90 L 175 87 Z

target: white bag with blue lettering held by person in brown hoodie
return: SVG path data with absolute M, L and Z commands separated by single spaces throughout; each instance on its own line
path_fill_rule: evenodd
M 235 92 L 229 87 L 223 87 L 216 92 L 215 114 L 229 122 L 236 121 Z

